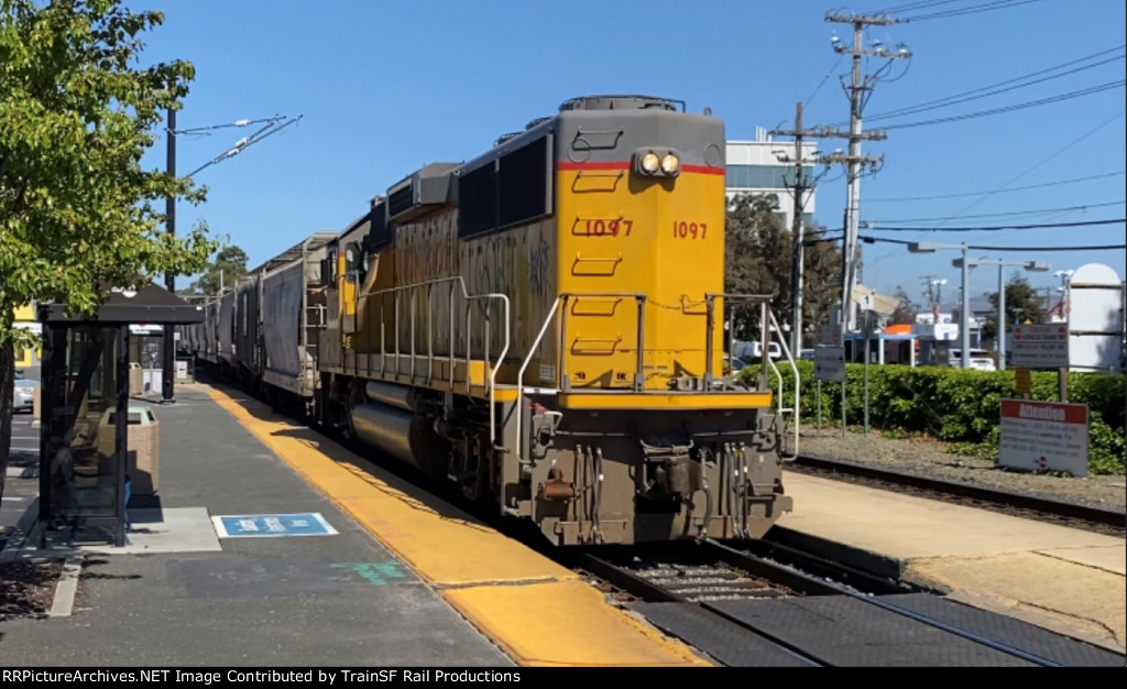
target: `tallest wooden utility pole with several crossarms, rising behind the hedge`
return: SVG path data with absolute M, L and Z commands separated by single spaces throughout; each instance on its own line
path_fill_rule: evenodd
M 852 55 L 853 58 L 852 82 L 850 86 L 844 86 L 843 83 L 843 87 L 850 96 L 850 132 L 848 136 L 849 156 L 845 160 L 849 168 L 849 198 L 845 211 L 846 224 L 844 241 L 845 274 L 842 276 L 844 283 L 842 285 L 842 325 L 843 330 L 852 330 L 857 321 L 857 304 L 853 303 L 853 290 L 857 286 L 857 265 L 860 260 L 858 228 L 861 206 L 861 165 L 866 161 L 866 159 L 861 156 L 861 142 L 866 140 L 886 138 L 882 133 L 877 135 L 861 133 L 862 113 L 864 111 L 864 105 L 868 103 L 869 96 L 871 96 L 872 90 L 876 88 L 877 80 L 880 78 L 881 73 L 888 69 L 894 60 L 911 59 L 912 53 L 903 43 L 897 46 L 897 51 L 895 53 L 889 51 L 879 42 L 873 43 L 876 46 L 875 50 L 866 50 L 863 46 L 863 34 L 867 26 L 888 26 L 890 24 L 899 23 L 899 19 L 893 19 L 887 15 L 866 16 L 827 12 L 826 21 L 853 25 L 852 46 L 846 47 L 841 44 L 841 41 L 836 36 L 833 37 L 834 51 L 841 54 Z M 878 70 L 877 73 L 862 77 L 861 58 L 866 55 L 886 58 L 889 62 L 887 65 Z

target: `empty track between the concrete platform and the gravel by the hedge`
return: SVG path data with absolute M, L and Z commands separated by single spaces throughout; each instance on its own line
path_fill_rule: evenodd
M 1127 535 L 1127 512 L 1121 510 L 1093 507 L 1000 488 L 928 478 L 825 457 L 800 456 L 789 465 L 789 468 L 813 475 L 833 475 L 878 488 L 909 488 L 929 497 L 961 502 L 975 507 L 1109 536 Z

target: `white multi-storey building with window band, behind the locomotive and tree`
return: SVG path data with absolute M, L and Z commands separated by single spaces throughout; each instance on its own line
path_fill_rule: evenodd
M 730 201 L 736 194 L 775 194 L 779 198 L 780 217 L 787 228 L 793 227 L 795 195 L 791 186 L 795 184 L 795 164 L 782 162 L 780 158 L 795 160 L 795 143 L 792 141 L 774 141 L 763 127 L 755 127 L 754 141 L 728 141 L 727 150 L 727 193 Z M 804 143 L 805 159 L 813 158 L 817 150 L 814 143 Z M 806 166 L 804 176 L 813 179 L 814 167 Z M 802 227 L 809 228 L 814 222 L 815 192 L 808 192 L 802 206 Z

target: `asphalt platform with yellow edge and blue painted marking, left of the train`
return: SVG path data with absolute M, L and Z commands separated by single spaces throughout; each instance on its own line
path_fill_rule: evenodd
M 3 621 L 0 665 L 709 664 L 571 571 L 240 392 L 185 385 L 150 406 L 159 500 L 130 510 L 130 545 L 89 530 L 71 548 L 50 531 L 37 549 L 33 524 L 0 550 L 81 564 L 59 585 L 77 589 L 72 609 Z

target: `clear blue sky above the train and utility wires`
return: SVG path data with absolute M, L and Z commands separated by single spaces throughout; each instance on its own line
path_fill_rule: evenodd
M 372 196 L 412 170 L 473 158 L 498 135 L 556 112 L 574 96 L 639 92 L 685 100 L 691 112 L 711 107 L 726 121 L 729 139 L 752 139 L 756 126 L 790 126 L 797 101 L 807 103 L 808 126 L 845 123 L 849 105 L 838 74 L 848 77 L 850 60 L 833 52 L 831 36 L 852 43 L 852 27 L 827 23 L 831 9 L 931 6 L 894 12 L 916 19 L 866 35 L 867 42 L 889 46 L 904 42 L 914 56 L 891 67 L 866 108 L 867 118 L 873 117 L 866 129 L 885 127 L 888 138 L 862 147 L 863 153 L 885 156 L 882 169 L 862 180 L 862 221 L 878 228 L 913 224 L 905 221 L 914 219 L 980 227 L 1124 218 L 1127 120 L 1121 85 L 993 116 L 894 129 L 1121 81 L 1120 46 L 1127 41 L 1120 0 L 1038 0 L 932 19 L 921 17 L 986 0 L 894 1 L 834 7 L 810 0 L 153 0 L 130 6 L 166 15 L 165 25 L 147 37 L 145 60 L 180 58 L 196 67 L 178 129 L 302 116 L 296 125 L 199 173 L 196 180 L 210 189 L 205 204 L 178 205 L 179 228 L 205 219 L 213 235 L 242 247 L 252 265 L 314 231 L 343 229 L 366 211 Z M 1057 79 L 875 118 L 1103 51 L 1109 52 L 1065 69 L 1107 63 Z M 882 64 L 868 62 L 866 71 Z M 229 129 L 181 136 L 178 171 L 195 169 L 248 133 Z M 828 152 L 844 142 L 824 140 L 820 145 Z M 163 167 L 163 161 L 160 141 L 145 162 Z M 1095 178 L 1054 184 L 1085 177 Z M 1013 191 L 1028 186 L 1035 188 Z M 844 203 L 841 170 L 829 170 L 817 191 L 816 221 L 840 227 Z M 1082 205 L 1088 207 L 1039 212 Z M 1012 212 L 1023 214 L 1001 215 Z M 1042 247 L 1121 245 L 1125 230 L 1118 223 L 862 235 Z M 922 301 L 921 276 L 933 274 L 948 279 L 944 294 L 956 294 L 955 251 L 909 255 L 891 244 L 867 245 L 863 251 L 864 282 L 880 291 L 904 285 Z M 1127 273 L 1124 250 L 973 255 L 1047 260 L 1053 271 L 1098 262 L 1121 277 Z M 1031 277 L 1035 284 L 1057 283 L 1051 272 Z M 178 279 L 178 286 L 185 282 Z M 976 270 L 973 294 L 996 289 L 996 267 Z

